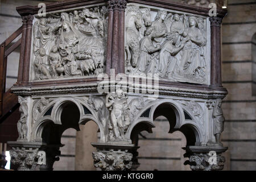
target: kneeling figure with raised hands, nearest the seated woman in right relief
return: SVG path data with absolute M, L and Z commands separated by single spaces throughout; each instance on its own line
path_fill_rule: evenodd
M 185 46 L 184 41 L 179 47 L 175 46 L 178 38 L 179 36 L 173 32 L 172 34 L 168 34 L 166 37 L 167 40 L 163 43 L 159 54 L 158 71 L 160 77 L 171 78 L 175 71 L 174 69 L 177 63 L 175 55 Z

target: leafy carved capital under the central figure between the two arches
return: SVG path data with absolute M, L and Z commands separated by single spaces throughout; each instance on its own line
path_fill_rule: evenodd
M 126 151 L 97 151 L 92 156 L 94 167 L 102 171 L 126 171 L 133 163 L 133 154 Z

